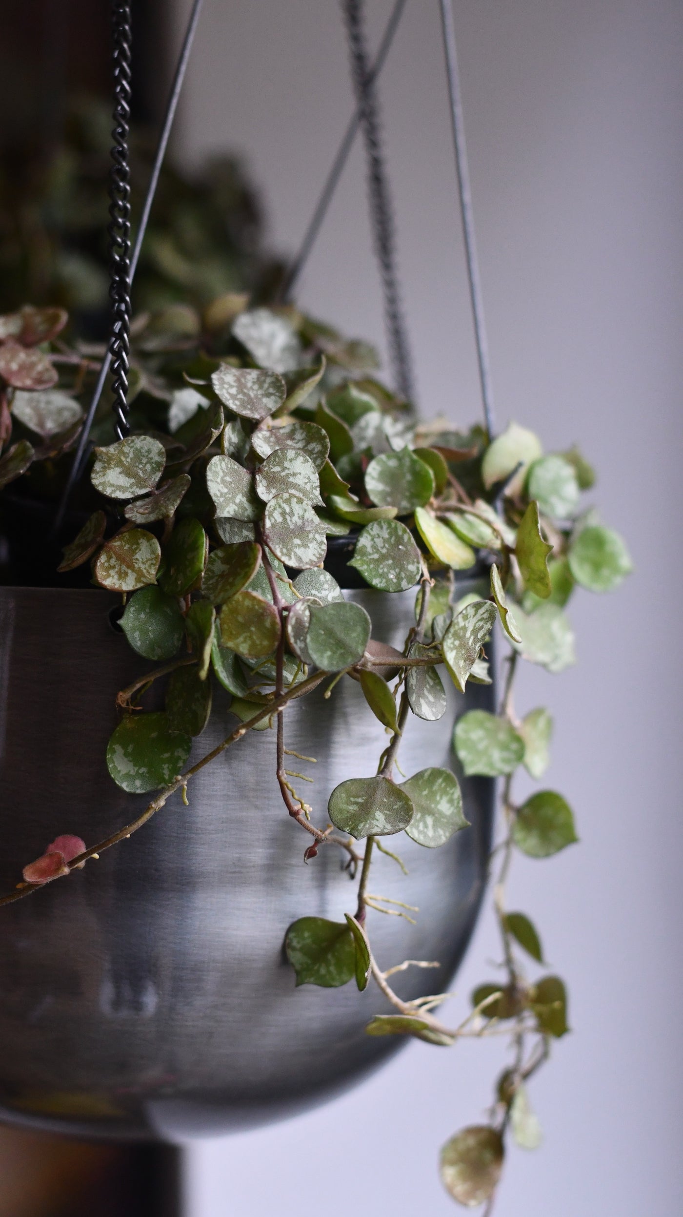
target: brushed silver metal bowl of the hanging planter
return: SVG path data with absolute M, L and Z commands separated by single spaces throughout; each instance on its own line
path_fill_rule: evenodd
M 376 636 L 402 644 L 412 593 L 346 595 L 367 607 Z M 2 891 L 57 834 L 91 843 L 147 802 L 120 791 L 105 764 L 115 692 L 145 662 L 109 624 L 118 602 L 95 589 L 0 588 Z M 457 770 L 456 710 L 492 702 L 481 685 L 457 707 L 452 689 L 448 697 L 439 723 L 411 716 L 400 752 L 406 774 Z M 222 690 L 214 707 L 193 758 L 235 725 Z M 0 910 L 1 1118 L 182 1139 L 321 1101 L 396 1050 L 396 1041 L 363 1032 L 386 1008 L 374 986 L 294 987 L 287 926 L 304 915 L 343 919 L 355 886 L 333 847 L 303 864 L 309 842 L 277 792 L 273 735 L 250 733 L 208 765 L 190 786 L 188 808 L 174 796 L 100 862 Z M 318 758 L 306 767 L 318 823 L 332 789 L 373 774 L 385 742 L 351 680 L 327 702 L 320 691 L 294 702 L 287 744 Z M 390 858 L 373 860 L 371 890 L 420 910 L 414 926 L 369 914 L 379 964 L 441 964 L 397 977 L 405 997 L 447 986 L 479 908 L 493 784 L 459 776 L 472 828 L 434 851 L 391 837 L 407 877 Z

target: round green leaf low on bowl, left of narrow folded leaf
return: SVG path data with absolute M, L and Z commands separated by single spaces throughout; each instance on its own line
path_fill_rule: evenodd
M 284 940 L 287 958 L 297 974 L 297 986 L 339 988 L 356 975 L 356 944 L 348 925 L 321 916 L 294 921 Z

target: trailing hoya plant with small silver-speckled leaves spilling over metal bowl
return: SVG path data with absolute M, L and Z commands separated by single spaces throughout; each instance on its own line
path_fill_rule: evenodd
M 122 595 L 120 627 L 131 647 L 158 664 L 149 671 L 147 663 L 119 691 L 120 720 L 107 748 L 113 780 L 153 797 L 105 841 L 86 847 L 79 837 L 57 837 L 4 902 L 84 867 L 175 791 L 187 798 L 193 776 L 248 731 L 273 730 L 282 801 L 307 835 L 304 859 L 339 848 L 356 884 L 344 922 L 303 916 L 283 926 L 297 983 L 365 989 L 372 980 L 393 1008 L 368 1021 L 372 1036 L 412 1034 L 440 1047 L 509 1036 L 510 1065 L 496 1083 L 490 1122 L 462 1131 L 441 1154 L 453 1199 L 490 1206 L 508 1132 L 526 1148 L 538 1143 L 525 1083 L 552 1039 L 568 1031 L 565 986 L 547 975 L 531 920 L 506 902 L 515 851 L 546 858 L 576 841 L 560 793 L 541 789 L 515 798 L 521 768 L 542 779 L 552 734 L 544 707 L 518 711 L 515 675 L 520 660 L 551 672 L 574 663 L 566 602 L 577 585 L 616 587 L 631 568 L 628 554 L 582 506 L 593 472 L 576 449 L 543 454 L 517 424 L 492 441 L 480 427 L 416 426 L 405 403 L 369 375 L 365 344 L 345 343 L 292 308 L 244 305 L 222 297 L 203 316 L 166 310 L 137 319 L 132 431 L 96 447 L 95 510 L 61 566 L 90 562 L 92 582 Z M 58 482 L 68 461 L 83 416 L 79 396 L 98 364 L 83 349 L 55 352 L 55 326 L 64 321 L 55 310 L 0 319 L 4 442 L 15 427 L 18 436 L 0 460 L 5 482 L 28 477 L 40 460 L 57 470 Z M 53 387 L 56 359 L 66 388 Z M 103 441 L 109 425 L 103 414 Z M 335 537 L 351 539 L 349 565 L 368 587 L 416 589 L 402 651 L 372 635 L 368 613 L 324 568 Z M 458 596 L 459 571 L 482 577 L 479 594 Z M 461 714 L 453 744 L 465 775 L 502 779 L 491 859 L 499 974 L 478 987 L 459 1021 L 446 1022 L 440 1009 L 448 994 L 406 1002 L 391 985 L 407 966 L 435 961 L 373 954 L 373 916 L 412 910 L 372 893 L 372 859 L 380 851 L 402 865 L 385 843 L 401 832 L 438 848 L 467 831 L 456 775 L 445 768 L 405 775 L 400 745 L 411 716 L 434 722 L 446 713 L 444 680 L 459 694 L 468 680 L 491 682 L 486 645 L 495 629 L 508 650 L 499 710 Z M 146 695 L 162 679 L 159 711 Z M 287 747 L 286 712 L 321 684 L 333 695 L 342 679 L 360 683 L 386 746 L 374 774 L 350 772 L 320 808 L 300 793 L 310 775 L 288 768 L 293 756 L 304 765 L 315 758 Z M 236 725 L 188 765 L 215 683 L 231 695 Z

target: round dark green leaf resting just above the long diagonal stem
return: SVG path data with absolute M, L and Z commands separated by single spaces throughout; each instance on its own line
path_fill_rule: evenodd
M 191 747 L 190 736 L 171 731 L 164 713 L 126 714 L 107 745 L 107 768 L 122 790 L 145 795 L 182 773 Z

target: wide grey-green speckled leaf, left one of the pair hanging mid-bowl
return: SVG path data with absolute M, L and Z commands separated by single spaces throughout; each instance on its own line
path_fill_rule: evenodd
M 350 778 L 332 791 L 327 812 L 334 828 L 361 840 L 391 836 L 406 829 L 413 817 L 413 803 L 388 778 Z

